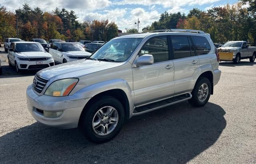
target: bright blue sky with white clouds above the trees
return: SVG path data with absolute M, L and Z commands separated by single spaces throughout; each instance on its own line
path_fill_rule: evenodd
M 137 28 L 135 22 L 140 20 L 139 31 L 160 18 L 160 14 L 185 13 L 199 8 L 207 11 L 215 6 L 235 4 L 237 0 L 0 0 L 0 6 L 15 12 L 22 8 L 24 2 L 32 8 L 40 7 L 43 11 L 52 12 L 56 7 L 74 10 L 80 22 L 84 20 L 114 21 L 118 29 Z

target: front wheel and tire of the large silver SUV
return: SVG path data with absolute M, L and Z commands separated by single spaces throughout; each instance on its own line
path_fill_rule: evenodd
M 124 123 L 124 107 L 120 101 L 111 96 L 102 96 L 94 99 L 87 107 L 82 112 L 79 126 L 86 138 L 102 143 L 111 140 L 120 132 Z M 93 123 L 96 125 L 93 126 Z M 108 127 L 108 131 L 105 127 Z

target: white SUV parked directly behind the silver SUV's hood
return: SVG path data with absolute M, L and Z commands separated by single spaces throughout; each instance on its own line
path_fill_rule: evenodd
M 56 63 L 67 63 L 69 61 L 85 59 L 91 55 L 80 44 L 72 42 L 52 43 L 49 53 Z

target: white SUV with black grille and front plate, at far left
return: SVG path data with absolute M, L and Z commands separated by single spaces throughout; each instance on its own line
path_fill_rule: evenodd
M 52 55 L 46 52 L 40 43 L 32 41 L 12 42 L 7 57 L 9 66 L 15 66 L 17 73 L 54 65 Z

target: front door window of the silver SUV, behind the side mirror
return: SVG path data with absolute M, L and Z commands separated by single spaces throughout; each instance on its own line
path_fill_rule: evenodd
M 169 50 L 166 36 L 150 38 L 140 50 L 139 56 L 150 54 L 154 57 L 154 63 L 168 61 Z

